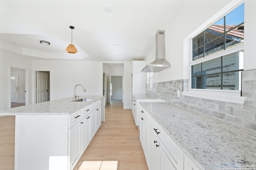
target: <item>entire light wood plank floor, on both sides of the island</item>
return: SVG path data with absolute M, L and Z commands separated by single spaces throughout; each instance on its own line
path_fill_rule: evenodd
M 0 170 L 14 170 L 14 135 L 15 116 L 0 117 Z M 106 106 L 105 122 L 102 122 L 74 170 L 92 170 L 79 167 L 88 160 L 117 160 L 118 170 L 148 170 L 131 109 L 123 109 L 121 102 Z

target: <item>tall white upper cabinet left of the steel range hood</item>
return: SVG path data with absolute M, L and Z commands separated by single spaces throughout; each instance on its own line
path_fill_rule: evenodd
M 132 61 L 132 94 L 145 94 L 146 74 L 140 72 L 146 61 Z

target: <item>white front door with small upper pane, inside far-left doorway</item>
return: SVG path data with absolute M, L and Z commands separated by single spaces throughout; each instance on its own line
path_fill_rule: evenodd
M 11 74 L 10 77 L 11 81 L 11 102 L 12 103 L 18 103 L 19 101 L 19 74 Z

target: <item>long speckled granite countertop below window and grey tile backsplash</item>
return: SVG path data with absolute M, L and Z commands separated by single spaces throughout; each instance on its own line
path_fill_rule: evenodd
M 169 102 L 140 104 L 198 168 L 256 169 L 254 131 Z

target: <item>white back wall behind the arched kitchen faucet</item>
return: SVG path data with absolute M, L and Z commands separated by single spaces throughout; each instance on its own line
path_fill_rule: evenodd
M 50 100 L 70 97 L 76 84 L 78 95 L 102 95 L 102 62 L 34 60 L 33 71 L 50 71 Z M 34 78 L 33 78 L 34 80 Z

